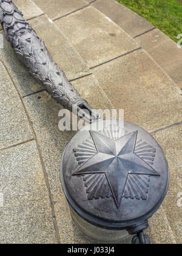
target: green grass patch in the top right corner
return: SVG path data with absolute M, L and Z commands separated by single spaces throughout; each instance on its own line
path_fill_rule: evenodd
M 138 13 L 174 41 L 182 33 L 182 1 L 116 0 Z

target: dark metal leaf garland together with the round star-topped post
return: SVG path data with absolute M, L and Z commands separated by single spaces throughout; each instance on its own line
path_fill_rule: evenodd
M 18 57 L 57 102 L 90 123 L 99 119 L 11 0 L 0 0 L 0 21 Z M 137 233 L 132 243 L 150 243 L 143 230 L 167 193 L 166 158 L 157 141 L 140 127 L 124 122 L 122 130 L 118 121 L 110 128 L 81 130 L 70 141 L 61 160 L 64 193 L 86 221 Z

